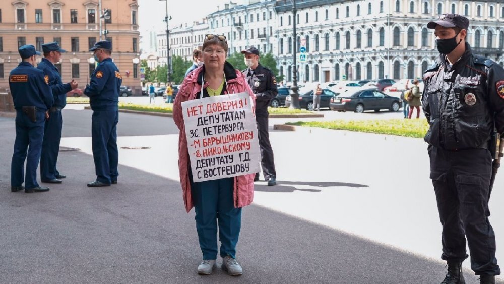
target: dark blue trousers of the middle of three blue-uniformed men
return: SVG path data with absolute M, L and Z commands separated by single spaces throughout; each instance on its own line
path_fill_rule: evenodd
M 49 119 L 45 121 L 44 141 L 42 142 L 42 154 L 40 155 L 40 180 L 42 182 L 54 180 L 59 175 L 56 162 L 58 160 L 62 127 L 61 110 L 50 111 Z

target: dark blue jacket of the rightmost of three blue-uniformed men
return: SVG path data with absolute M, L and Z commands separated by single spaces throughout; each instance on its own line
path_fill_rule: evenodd
M 84 90 L 84 94 L 89 97 L 91 109 L 118 110 L 121 84 L 121 74 L 112 59 L 107 58 L 100 62 L 91 74 L 89 86 Z

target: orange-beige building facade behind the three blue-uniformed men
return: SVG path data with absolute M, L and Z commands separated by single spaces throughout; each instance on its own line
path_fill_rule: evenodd
M 101 6 L 101 7 L 100 7 Z M 56 67 L 64 82 L 75 79 L 85 87 L 95 68 L 90 46 L 112 41 L 112 58 L 122 84 L 141 92 L 136 0 L 13 0 L 0 2 L 0 87 L 8 86 L 9 72 L 20 62 L 18 47 L 57 41 L 63 49 Z M 108 10 L 109 19 L 100 18 Z M 108 18 L 108 17 L 107 17 Z M 106 35 L 104 32 L 108 31 Z

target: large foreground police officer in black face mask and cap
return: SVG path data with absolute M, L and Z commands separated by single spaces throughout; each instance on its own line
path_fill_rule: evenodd
M 441 258 L 448 262 L 443 283 L 465 283 L 466 240 L 471 269 L 480 283 L 495 283 L 500 268 L 495 234 L 488 221 L 492 131 L 504 133 L 504 69 L 473 54 L 466 42 L 469 20 L 445 14 L 435 29 L 436 63 L 424 74 L 422 107 L 430 128 L 430 178 L 443 226 Z

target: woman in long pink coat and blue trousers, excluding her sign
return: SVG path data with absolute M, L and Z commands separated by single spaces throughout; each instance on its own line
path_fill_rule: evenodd
M 255 174 L 194 182 L 185 131 L 184 115 L 187 114 L 182 110 L 182 102 L 224 94 L 247 92 L 250 97 L 254 94 L 241 72 L 226 62 L 228 45 L 224 35 L 206 35 L 202 50 L 204 65 L 184 79 L 173 105 L 173 119 L 180 130 L 180 183 L 185 209 L 189 212 L 195 207 L 196 229 L 203 253 L 198 273 L 210 274 L 216 266 L 218 226 L 222 269 L 230 275 L 241 275 L 241 266 L 235 259 L 241 207 L 252 202 Z M 250 103 L 254 103 L 254 99 Z

